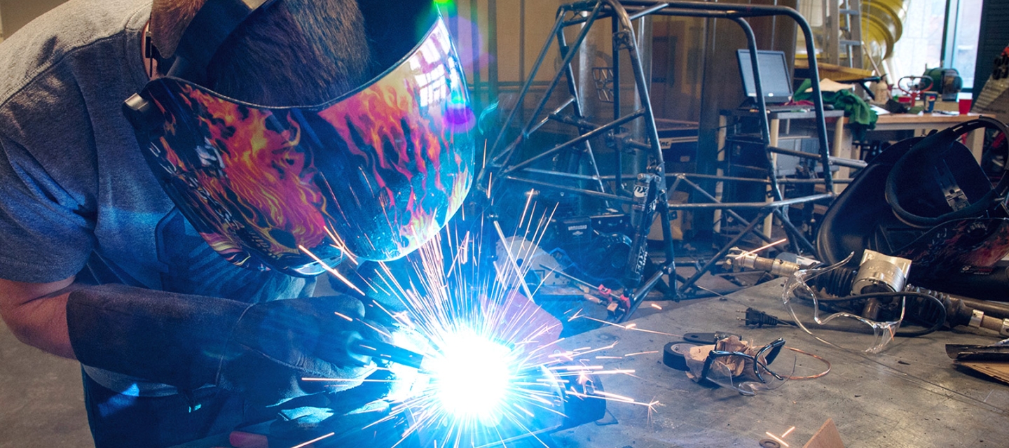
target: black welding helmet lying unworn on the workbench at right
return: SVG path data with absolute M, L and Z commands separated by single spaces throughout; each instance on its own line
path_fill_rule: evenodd
M 819 259 L 836 263 L 854 253 L 858 261 L 872 249 L 910 259 L 909 281 L 917 286 L 957 293 L 962 273 L 977 284 L 978 273 L 1009 253 L 1009 176 L 986 176 L 960 142 L 976 129 L 1007 132 L 1005 124 L 982 117 L 900 141 L 874 158 L 823 216 Z

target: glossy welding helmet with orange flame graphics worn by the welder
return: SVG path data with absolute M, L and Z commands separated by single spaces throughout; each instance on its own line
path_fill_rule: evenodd
M 413 251 L 460 207 L 473 172 L 474 120 L 444 22 L 432 16 L 406 57 L 317 105 L 255 105 L 197 84 L 228 34 L 270 3 L 208 0 L 169 76 L 126 101 L 147 163 L 240 266 L 313 275 L 347 252 Z

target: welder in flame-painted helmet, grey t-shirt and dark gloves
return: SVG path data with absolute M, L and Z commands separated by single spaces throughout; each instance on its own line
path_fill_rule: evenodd
M 224 433 L 306 376 L 377 398 L 348 347 L 380 336 L 314 276 L 415 250 L 469 189 L 430 2 L 71 0 L 0 67 L 0 314 L 81 361 L 96 446 Z

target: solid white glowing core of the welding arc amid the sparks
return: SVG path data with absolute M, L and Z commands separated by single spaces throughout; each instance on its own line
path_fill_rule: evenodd
M 511 387 L 512 350 L 478 335 L 458 331 L 445 336 L 439 354 L 425 362 L 441 407 L 460 419 L 494 422 Z

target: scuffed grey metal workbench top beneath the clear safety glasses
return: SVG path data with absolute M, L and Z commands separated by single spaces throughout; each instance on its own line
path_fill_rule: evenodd
M 667 342 L 681 339 L 618 327 L 592 330 L 561 342 L 574 349 L 616 345 L 592 355 L 607 368 L 634 369 L 634 376 L 605 375 L 607 393 L 641 402 L 659 401 L 651 413 L 643 406 L 610 402 L 615 425 L 582 425 L 555 434 L 561 447 L 752 447 L 765 432 L 782 435 L 801 447 L 827 420 L 853 447 L 1005 447 L 1009 446 L 1009 386 L 954 365 L 945 343 L 991 344 L 995 337 L 940 331 L 917 338 L 897 338 L 877 355 L 845 351 L 816 341 L 800 329 L 777 326 L 748 329 L 737 317 L 754 307 L 788 317 L 780 300 L 782 281 L 774 281 L 686 307 L 632 321 L 637 328 L 672 334 L 728 331 L 759 344 L 778 337 L 786 345 L 828 360 L 826 376 L 790 380 L 774 390 L 744 397 L 728 388 L 695 383 L 662 363 Z M 782 351 L 789 353 L 789 351 Z M 799 355 L 795 375 L 822 370 L 822 363 Z M 776 367 L 778 364 L 772 364 Z M 801 369 L 801 372 L 799 371 Z M 785 372 L 787 373 L 787 372 Z

